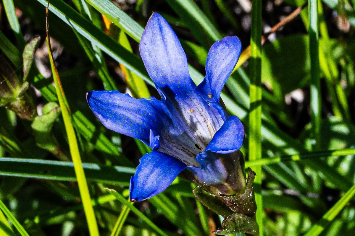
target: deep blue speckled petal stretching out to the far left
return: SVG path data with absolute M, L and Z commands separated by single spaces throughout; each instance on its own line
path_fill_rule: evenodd
M 142 140 L 149 146 L 151 136 L 156 136 L 169 122 L 161 101 L 151 98 L 135 99 L 119 91 L 91 91 L 86 95 L 90 108 L 108 129 Z M 153 135 L 151 135 L 151 130 Z M 157 139 L 153 139 L 157 142 Z

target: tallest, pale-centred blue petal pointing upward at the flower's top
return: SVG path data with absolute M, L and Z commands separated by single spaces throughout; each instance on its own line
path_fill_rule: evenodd
M 149 18 L 139 50 L 144 66 L 158 90 L 168 87 L 177 93 L 192 89 L 186 54 L 173 29 L 158 13 L 153 13 Z M 159 92 L 164 98 L 163 92 Z

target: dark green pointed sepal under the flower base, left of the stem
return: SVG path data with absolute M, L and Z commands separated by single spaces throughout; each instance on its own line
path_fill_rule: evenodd
M 192 192 L 198 201 L 214 213 L 223 215 L 224 217 L 233 214 L 233 211 L 226 204 L 218 200 L 212 193 L 204 191 L 200 185 L 195 187 Z

